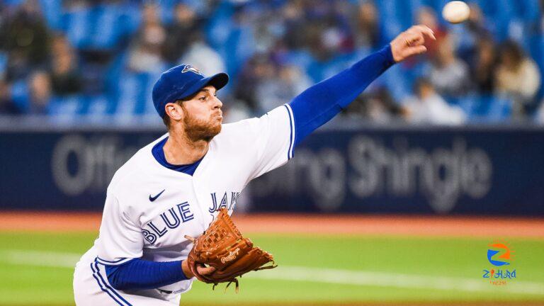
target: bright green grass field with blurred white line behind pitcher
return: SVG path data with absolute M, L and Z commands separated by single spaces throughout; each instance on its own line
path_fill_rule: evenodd
M 182 305 L 283 304 L 285 302 L 485 302 L 544 305 L 544 242 L 509 239 L 504 286 L 482 278 L 485 239 L 416 237 L 310 237 L 248 234 L 271 251 L 279 267 L 251 272 L 240 292 L 196 283 Z M 96 234 L 0 233 L 0 305 L 73 305 L 70 266 Z M 98 305 L 97 305 L 98 306 Z

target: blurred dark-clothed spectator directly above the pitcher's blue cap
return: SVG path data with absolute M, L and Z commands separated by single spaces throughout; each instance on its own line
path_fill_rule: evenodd
M 166 28 L 168 39 L 163 45 L 163 55 L 167 62 L 178 62 L 189 46 L 196 40 L 200 40 L 199 23 L 196 12 L 191 6 L 183 2 L 176 5 L 174 22 Z

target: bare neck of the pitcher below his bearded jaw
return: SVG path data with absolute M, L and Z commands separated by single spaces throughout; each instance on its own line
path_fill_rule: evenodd
M 164 144 L 166 162 L 175 165 L 193 164 L 204 157 L 210 147 L 209 140 L 191 140 L 185 130 L 171 129 Z

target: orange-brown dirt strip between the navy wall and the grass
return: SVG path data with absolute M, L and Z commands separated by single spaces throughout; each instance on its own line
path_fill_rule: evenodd
M 234 220 L 251 233 L 544 239 L 544 220 L 537 218 L 263 214 L 234 215 Z M 2 231 L 98 231 L 100 222 L 98 213 L 0 212 Z

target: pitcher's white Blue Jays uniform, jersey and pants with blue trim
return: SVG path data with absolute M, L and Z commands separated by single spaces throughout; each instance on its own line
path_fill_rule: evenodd
M 152 148 L 167 136 L 140 149 L 113 176 L 99 237 L 74 273 L 77 305 L 179 305 L 179 293 L 195 278 L 162 291 L 121 291 L 108 283 L 105 265 L 186 259 L 192 244 L 184 235 L 199 237 L 221 207 L 232 214 L 251 179 L 293 156 L 295 124 L 286 104 L 261 118 L 222 125 L 193 176 L 153 157 Z

